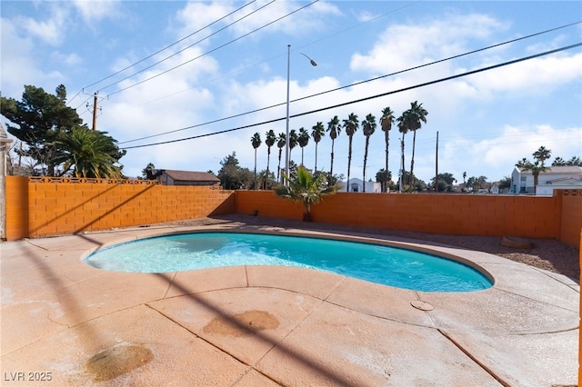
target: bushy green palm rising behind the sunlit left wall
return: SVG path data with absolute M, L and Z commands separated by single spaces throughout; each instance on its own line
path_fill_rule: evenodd
M 63 164 L 64 173 L 73 169 L 75 177 L 121 179 L 122 167 L 115 163 L 125 154 L 106 132 L 86 126 L 74 126 L 68 133 L 61 132 L 54 143 L 65 152 L 55 159 Z

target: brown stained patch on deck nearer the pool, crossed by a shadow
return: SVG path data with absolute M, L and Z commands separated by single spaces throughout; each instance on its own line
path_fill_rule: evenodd
M 257 331 L 276 329 L 279 321 L 265 311 L 247 311 L 233 316 L 218 316 L 208 323 L 203 331 L 206 333 L 226 334 L 241 337 Z

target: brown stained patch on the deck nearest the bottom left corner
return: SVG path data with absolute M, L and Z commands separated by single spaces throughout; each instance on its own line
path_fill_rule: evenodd
M 94 375 L 95 382 L 104 382 L 132 372 L 152 359 L 154 354 L 145 347 L 121 344 L 95 353 L 85 367 L 87 372 Z

